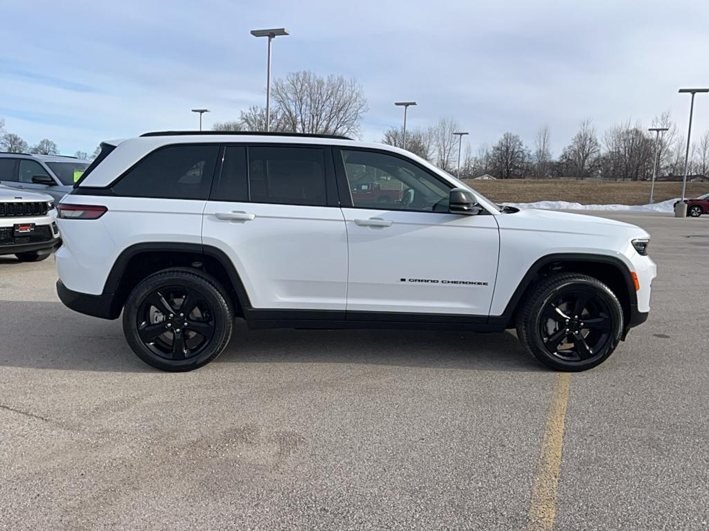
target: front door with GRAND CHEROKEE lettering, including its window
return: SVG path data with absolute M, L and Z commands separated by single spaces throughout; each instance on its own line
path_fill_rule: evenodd
M 403 156 L 342 149 L 335 165 L 350 191 L 367 182 L 401 196 L 386 204 L 345 198 L 347 319 L 356 312 L 489 315 L 499 250 L 494 215 L 450 214 L 451 185 Z

